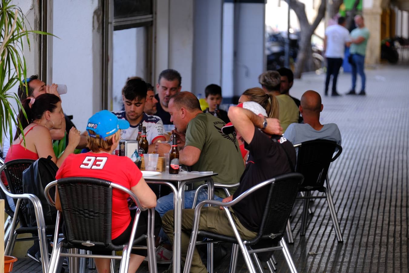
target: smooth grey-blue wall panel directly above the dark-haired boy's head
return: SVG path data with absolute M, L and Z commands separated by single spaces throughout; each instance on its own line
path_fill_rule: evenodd
M 192 93 L 205 96 L 210 83 L 221 85 L 222 0 L 194 1 Z M 224 94 L 223 94 L 224 95 Z

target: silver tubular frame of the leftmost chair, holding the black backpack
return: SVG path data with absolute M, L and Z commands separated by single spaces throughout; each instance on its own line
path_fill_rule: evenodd
M 2 165 L 0 167 L 0 173 L 2 171 L 4 171 L 5 169 L 7 169 L 7 167 L 9 165 L 12 165 L 15 162 L 34 162 L 35 160 L 29 160 L 29 159 L 18 159 L 18 160 L 11 160 L 9 162 L 4 163 L 4 165 Z M 6 248 L 4 250 L 4 255 L 11 255 L 13 248 L 14 248 L 14 244 L 16 241 L 28 241 L 28 240 L 39 240 L 40 243 L 40 255 L 41 255 L 41 267 L 43 272 L 47 272 L 48 270 L 48 264 L 49 264 L 49 260 L 48 260 L 48 248 L 47 248 L 47 235 L 45 232 L 46 229 L 46 225 L 45 225 L 45 220 L 44 220 L 44 215 L 43 215 L 43 206 L 41 205 L 40 199 L 38 199 L 37 196 L 35 196 L 34 194 L 12 194 L 11 192 L 9 192 L 6 188 L 6 186 L 4 186 L 4 183 L 0 183 L 0 187 L 1 190 L 3 191 L 3 193 L 13 199 L 17 199 L 16 201 L 16 210 L 14 211 L 14 217 L 12 217 L 11 220 L 11 224 L 8 227 L 9 230 L 7 230 L 7 232 L 9 233 L 9 237 L 7 239 L 7 245 Z M 17 223 L 18 223 L 18 218 L 16 217 L 16 215 L 18 216 L 21 212 L 20 212 L 20 203 L 24 200 L 24 199 L 28 199 L 31 203 L 33 203 L 34 206 L 34 212 L 36 215 L 36 221 L 37 221 L 37 228 L 36 230 L 38 231 L 38 237 L 23 237 L 23 238 L 17 238 L 17 232 L 16 232 L 16 228 L 17 228 Z M 6 203 L 6 202 L 4 202 Z M 8 219 L 9 220 L 9 219 Z

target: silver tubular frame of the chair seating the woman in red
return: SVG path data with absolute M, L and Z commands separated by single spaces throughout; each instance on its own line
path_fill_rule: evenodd
M 72 177 L 72 178 L 62 178 L 60 180 L 75 180 L 76 177 Z M 78 179 L 78 177 L 77 177 Z M 95 181 L 97 178 L 84 178 L 81 177 L 81 182 L 82 183 L 92 183 L 91 181 Z M 87 182 L 87 179 L 88 182 Z M 102 180 L 102 181 L 106 181 L 103 179 L 98 179 L 98 180 Z M 51 255 L 51 259 L 50 259 L 50 265 L 49 265 L 49 270 L 47 271 L 47 273 L 56 273 L 56 269 L 57 269 L 57 264 L 58 264 L 58 260 L 60 257 L 69 257 L 71 259 L 70 262 L 70 272 L 76 272 L 76 266 L 77 266 L 77 258 L 104 258 L 104 259 L 121 259 L 121 264 L 119 267 L 119 273 L 127 273 L 128 272 L 128 267 L 129 267 L 129 258 L 130 258 L 130 252 L 131 252 L 131 248 L 134 249 L 147 249 L 148 250 L 148 259 L 149 259 L 149 272 L 150 273 L 157 273 L 157 267 L 156 267 L 156 254 L 155 254 L 155 235 L 154 235 L 154 226 L 155 226 L 155 210 L 153 208 L 148 209 L 148 208 L 144 208 L 142 207 L 141 203 L 139 202 L 139 199 L 137 198 L 137 196 L 130 190 L 128 190 L 126 187 L 123 187 L 119 184 L 116 183 L 112 183 L 110 181 L 106 181 L 108 183 L 110 183 L 110 188 L 114 188 L 117 190 L 121 190 L 123 192 L 125 192 L 126 194 L 129 194 L 130 198 L 135 202 L 135 204 L 137 204 L 137 212 L 135 214 L 135 219 L 133 221 L 133 226 L 132 226 L 132 232 L 128 241 L 128 244 L 124 245 L 123 250 L 122 250 L 122 256 L 118 256 L 118 255 L 114 255 L 115 253 L 113 253 L 112 255 L 94 255 L 94 254 L 85 254 L 83 251 L 80 251 L 80 253 L 78 253 L 78 250 L 76 248 L 72 248 L 71 253 L 61 253 L 61 248 L 63 247 L 63 242 L 60 242 L 57 244 L 57 239 L 56 237 L 54 237 L 54 246 L 56 246 L 55 248 L 53 248 L 52 251 L 52 255 Z M 52 187 L 55 187 L 56 185 L 58 185 L 58 180 L 55 180 L 51 183 L 49 183 L 46 187 L 45 187 L 45 195 L 48 197 L 48 202 L 51 205 L 55 206 L 54 201 L 52 200 L 51 196 L 49 195 L 49 190 Z M 147 246 L 133 246 L 134 245 L 134 240 L 135 240 L 135 233 L 136 233 L 136 229 L 137 229 L 137 225 L 138 225 L 138 221 L 139 221 L 139 217 L 141 214 L 141 211 L 145 211 L 148 210 L 148 232 L 145 235 L 146 241 L 147 241 Z M 58 211 L 57 213 L 57 220 L 56 220 L 56 230 L 57 227 L 60 225 L 60 218 L 61 218 L 61 212 Z M 129 246 L 132 246 L 131 248 Z M 83 267 L 81 265 L 81 267 Z M 111 262 L 111 270 L 114 269 L 113 267 L 113 263 Z M 114 271 L 112 271 L 114 272 Z

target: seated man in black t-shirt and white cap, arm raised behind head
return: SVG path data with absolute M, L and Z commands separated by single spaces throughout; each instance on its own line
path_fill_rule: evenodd
M 240 178 L 238 189 L 234 195 L 223 199 L 223 202 L 232 201 L 250 187 L 264 180 L 292 172 L 296 163 L 295 149 L 291 142 L 281 136 L 282 128 L 279 120 L 259 115 L 261 109 L 264 110 L 260 104 L 256 102 L 246 103 L 252 104 L 251 107 L 247 107 L 247 105 L 242 107 L 231 106 L 228 115 L 234 129 L 243 138 L 246 149 L 250 151 L 250 156 L 246 169 Z M 223 133 L 228 132 L 225 132 L 223 128 Z M 252 239 L 257 235 L 267 192 L 265 189 L 260 189 L 236 204 L 233 211 L 230 210 L 238 232 L 243 239 Z M 193 218 L 193 209 L 182 210 L 181 257 L 183 263 L 189 247 Z M 173 210 L 162 217 L 162 223 L 163 230 L 169 239 L 173 241 Z M 199 227 L 200 230 L 234 236 L 226 214 L 220 208 L 202 208 Z M 171 267 L 166 272 L 171 272 Z M 193 254 L 191 272 L 207 272 L 197 251 Z

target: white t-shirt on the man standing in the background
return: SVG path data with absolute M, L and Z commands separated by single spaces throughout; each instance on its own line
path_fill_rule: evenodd
M 327 47 L 325 56 L 327 58 L 344 58 L 345 43 L 351 41 L 348 29 L 342 25 L 332 25 L 325 30 Z

